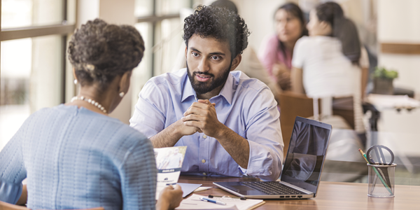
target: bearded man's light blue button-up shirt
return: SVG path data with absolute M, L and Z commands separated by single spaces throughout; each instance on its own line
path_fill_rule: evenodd
M 197 102 L 187 70 L 165 73 L 148 80 L 139 94 L 130 126 L 150 138 L 183 117 Z M 181 172 L 209 176 L 257 176 L 276 180 L 283 160 L 279 111 L 269 87 L 241 71 L 232 71 L 216 104 L 218 120 L 248 140 L 247 169 L 239 167 L 225 148 L 204 133 L 184 136 L 175 146 L 188 146 Z

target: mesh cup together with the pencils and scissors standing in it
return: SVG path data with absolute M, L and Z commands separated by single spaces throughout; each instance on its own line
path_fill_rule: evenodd
M 370 147 L 366 154 L 360 150 L 367 162 L 368 188 L 370 197 L 395 197 L 395 167 L 393 152 L 382 145 Z

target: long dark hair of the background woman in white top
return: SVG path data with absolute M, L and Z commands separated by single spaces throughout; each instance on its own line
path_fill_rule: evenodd
M 328 22 L 332 27 L 331 36 L 336 37 L 342 43 L 344 55 L 353 64 L 359 64 L 360 39 L 356 25 L 344 17 L 342 8 L 338 3 L 327 2 L 316 7 L 318 20 Z

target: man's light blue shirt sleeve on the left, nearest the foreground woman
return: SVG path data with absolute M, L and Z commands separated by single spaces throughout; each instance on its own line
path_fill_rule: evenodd
M 165 114 L 162 107 L 166 106 L 167 101 L 158 85 L 148 80 L 139 93 L 139 101 L 130 119 L 130 127 L 148 138 L 161 132 L 165 129 Z

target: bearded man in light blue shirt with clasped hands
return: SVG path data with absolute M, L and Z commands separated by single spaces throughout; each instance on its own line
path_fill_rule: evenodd
M 186 69 L 148 80 L 130 126 L 155 148 L 188 146 L 181 174 L 279 178 L 279 111 L 269 87 L 241 71 L 249 31 L 225 8 L 199 6 L 185 19 Z

